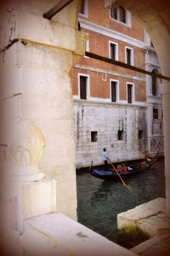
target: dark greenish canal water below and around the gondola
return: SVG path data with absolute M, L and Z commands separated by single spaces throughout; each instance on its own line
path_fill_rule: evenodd
M 165 197 L 164 161 L 156 161 L 150 170 L 124 178 L 124 182 L 133 190 L 121 181 L 93 177 L 88 169 L 77 171 L 78 222 L 116 242 L 118 213 Z

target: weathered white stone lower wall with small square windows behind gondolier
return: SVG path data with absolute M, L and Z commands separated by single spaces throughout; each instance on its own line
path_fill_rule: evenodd
M 107 148 L 113 162 L 140 159 L 145 155 L 145 141 L 139 130 L 145 128 L 145 108 L 103 102 L 74 102 L 76 167 L 102 165 L 102 148 Z M 92 132 L 97 141 L 92 142 Z M 122 131 L 122 139 L 118 138 Z

